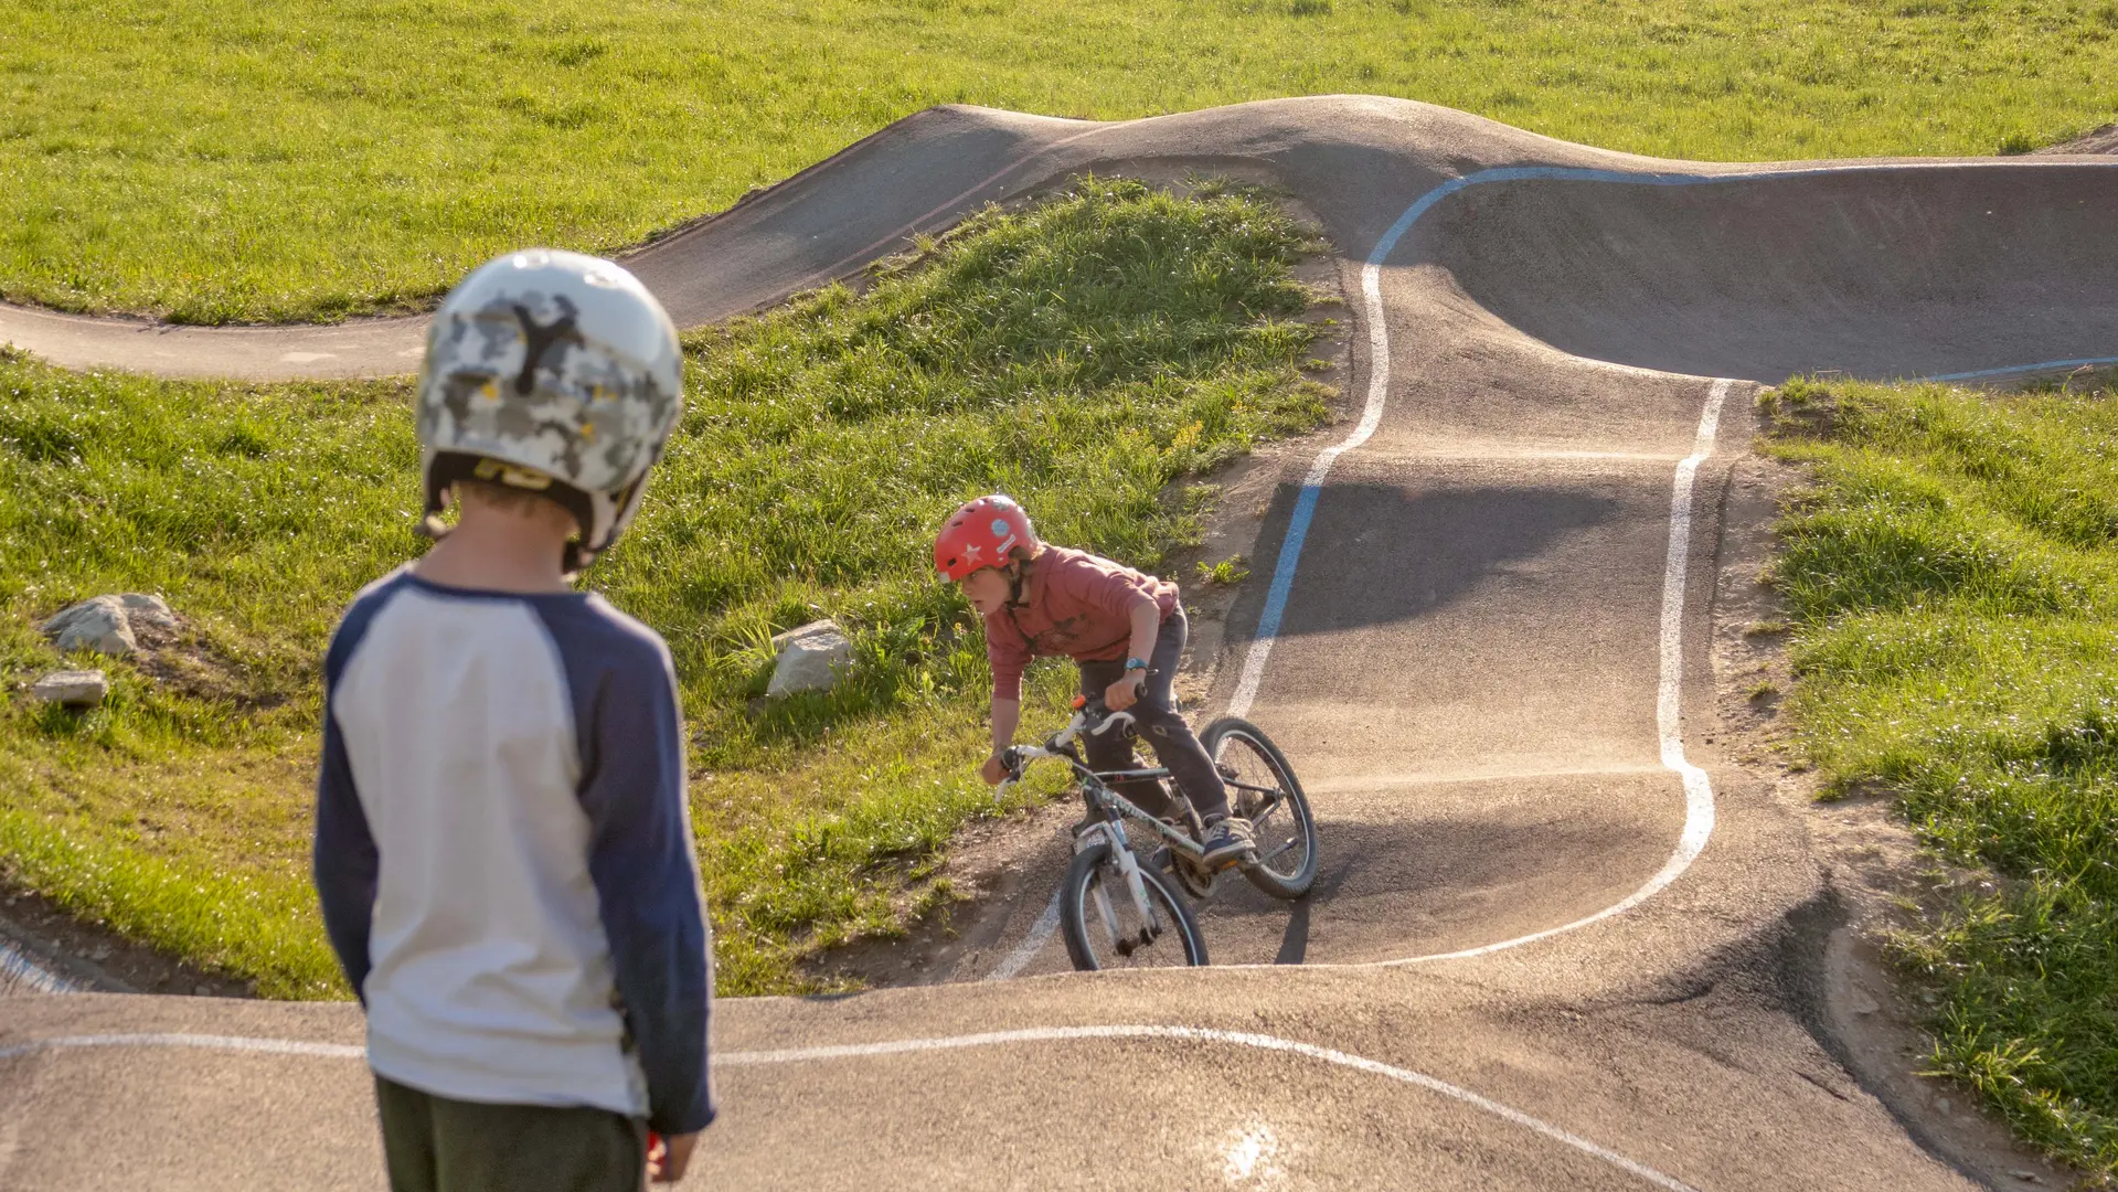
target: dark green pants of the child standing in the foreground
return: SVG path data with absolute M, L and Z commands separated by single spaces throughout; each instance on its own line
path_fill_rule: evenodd
M 610 1109 L 479 1105 L 375 1078 L 392 1192 L 640 1192 L 648 1126 Z

